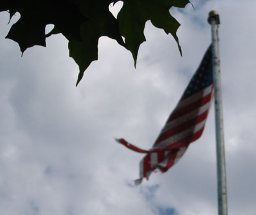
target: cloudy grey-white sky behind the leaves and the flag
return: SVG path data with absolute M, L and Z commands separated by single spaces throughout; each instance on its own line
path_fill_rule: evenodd
M 102 37 L 99 61 L 77 87 L 78 66 L 63 36 L 21 57 L 5 39 L 19 15 L 8 25 L 8 13 L 0 13 L 1 214 L 217 214 L 213 105 L 202 137 L 140 186 L 133 180 L 143 154 L 115 142 L 152 146 L 211 43 L 211 10 L 221 20 L 228 213 L 256 214 L 256 2 L 191 2 L 195 10 L 171 10 L 181 24 L 182 57 L 172 36 L 147 22 L 136 69 L 131 53 Z

